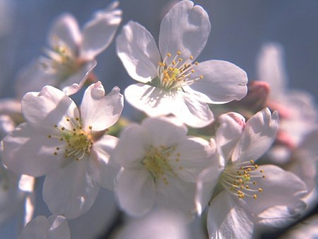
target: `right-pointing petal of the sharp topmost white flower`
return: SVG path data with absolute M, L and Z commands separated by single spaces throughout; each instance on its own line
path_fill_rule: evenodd
M 210 60 L 195 66 L 192 78 L 197 80 L 190 87 L 204 93 L 208 103 L 222 104 L 241 100 L 247 94 L 247 74 L 230 62 Z

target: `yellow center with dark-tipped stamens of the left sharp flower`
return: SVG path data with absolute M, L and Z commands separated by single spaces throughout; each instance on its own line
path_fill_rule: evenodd
M 87 131 L 81 126 L 78 117 L 75 119 L 66 118 L 64 126 L 59 127 L 57 124 L 54 128 L 57 129 L 57 135 L 49 134 L 49 139 L 59 139 L 64 141 L 64 146 L 57 147 L 54 155 L 62 153 L 65 158 L 75 158 L 76 161 L 83 158 L 86 153 L 90 154 L 90 148 L 93 146 L 93 137 L 91 136 L 92 127 L 88 127 Z

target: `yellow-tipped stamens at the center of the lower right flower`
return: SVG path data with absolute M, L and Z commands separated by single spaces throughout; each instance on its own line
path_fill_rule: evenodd
M 229 163 L 220 175 L 220 184 L 225 190 L 240 199 L 253 197 L 257 199 L 257 194 L 263 192 L 261 187 L 257 187 L 254 178 L 265 177 L 264 170 L 258 170 L 259 166 L 254 161 L 242 163 Z

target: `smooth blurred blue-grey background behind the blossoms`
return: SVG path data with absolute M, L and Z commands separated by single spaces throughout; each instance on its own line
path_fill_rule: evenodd
M 20 69 L 42 54 L 54 18 L 70 12 L 83 25 L 108 0 L 0 0 L 0 98 L 14 97 L 14 82 Z M 158 39 L 160 20 L 175 1 L 122 0 L 122 25 L 130 20 L 144 25 Z M 223 59 L 240 66 L 250 80 L 257 80 L 257 55 L 266 42 L 278 42 L 285 49 L 285 67 L 290 88 L 318 95 L 318 1 L 317 0 L 197 0 L 210 16 L 211 35 L 198 61 Z M 182 22 L 179 23 L 182 25 Z M 122 27 L 121 25 L 121 27 Z M 120 30 L 120 29 L 119 29 Z M 134 81 L 119 61 L 112 42 L 98 56 L 95 73 L 110 91 L 122 90 Z M 28 82 L 25 82 L 26 84 Z M 124 116 L 136 112 L 128 104 Z M 41 183 L 37 184 L 36 214 L 49 215 L 42 205 Z M 114 207 L 114 198 L 101 193 L 99 202 L 109 202 L 102 211 Z M 96 209 L 98 210 L 98 207 Z M 42 213 L 43 212 L 43 213 Z M 93 213 L 92 213 L 93 214 Z M 85 225 L 85 221 L 83 222 Z M 13 238 L 11 224 L 0 230 L 0 238 Z M 76 237 L 75 237 L 76 238 Z

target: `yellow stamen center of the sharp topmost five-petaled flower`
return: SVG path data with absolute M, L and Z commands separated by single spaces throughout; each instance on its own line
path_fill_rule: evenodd
M 172 54 L 167 53 L 163 62 L 159 62 L 157 69 L 158 78 L 160 79 L 160 87 L 165 91 L 182 90 L 183 86 L 189 86 L 194 81 L 204 78 L 204 76 L 192 78 L 193 68 L 199 63 L 194 62 L 192 64 L 192 56 L 189 59 L 183 59 L 180 55 L 181 52 L 178 51 L 175 57 L 172 58 Z

